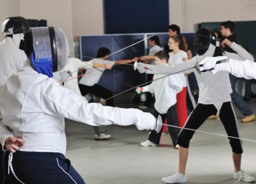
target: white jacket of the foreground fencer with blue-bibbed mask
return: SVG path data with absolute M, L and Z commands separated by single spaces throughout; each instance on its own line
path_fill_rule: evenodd
M 64 118 L 92 126 L 131 125 L 139 130 L 156 128 L 156 119 L 139 109 L 122 109 L 88 103 L 75 92 L 61 87 L 55 79 L 38 74 L 30 60 L 11 75 L 0 91 L 0 142 L 20 137 L 21 151 L 61 152 L 65 155 Z

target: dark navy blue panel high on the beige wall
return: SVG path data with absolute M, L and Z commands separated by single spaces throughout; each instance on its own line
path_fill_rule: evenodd
M 104 0 L 106 34 L 165 32 L 168 0 Z

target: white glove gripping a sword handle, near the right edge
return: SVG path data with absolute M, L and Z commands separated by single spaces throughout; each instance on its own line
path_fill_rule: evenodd
M 216 64 L 228 62 L 226 56 L 217 56 L 217 57 L 206 57 L 199 63 L 199 69 L 201 72 L 211 71 L 213 74 L 217 73 L 215 66 Z

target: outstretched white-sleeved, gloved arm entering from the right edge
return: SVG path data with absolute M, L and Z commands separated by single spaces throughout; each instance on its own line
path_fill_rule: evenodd
M 245 79 L 256 79 L 256 63 L 251 60 L 234 60 L 216 64 L 218 60 L 226 58 L 225 56 L 206 57 L 200 62 L 200 71 L 210 70 L 212 73 L 228 72 L 236 77 Z

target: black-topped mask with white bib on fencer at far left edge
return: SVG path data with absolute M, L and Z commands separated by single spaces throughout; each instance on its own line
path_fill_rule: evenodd
M 7 17 L 2 24 L 2 32 L 5 36 L 11 35 L 13 42 L 19 47 L 20 40 L 23 40 L 24 34 L 28 32 L 30 26 L 24 17 Z

